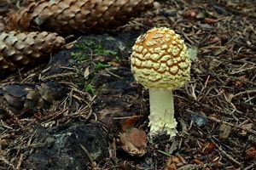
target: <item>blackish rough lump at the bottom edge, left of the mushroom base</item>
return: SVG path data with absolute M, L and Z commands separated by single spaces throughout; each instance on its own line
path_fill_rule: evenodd
M 41 147 L 26 152 L 22 168 L 37 170 L 84 170 L 91 161 L 108 157 L 107 133 L 97 124 L 67 123 L 47 132 L 38 129 Z M 86 153 L 87 152 L 87 153 Z

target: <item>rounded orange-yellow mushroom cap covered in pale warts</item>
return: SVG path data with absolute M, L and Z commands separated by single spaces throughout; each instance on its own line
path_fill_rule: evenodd
M 145 88 L 180 88 L 190 79 L 190 60 L 184 41 L 173 30 L 152 28 L 132 47 L 131 71 Z

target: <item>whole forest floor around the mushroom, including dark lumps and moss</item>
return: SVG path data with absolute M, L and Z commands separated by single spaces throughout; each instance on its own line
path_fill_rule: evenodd
M 130 69 L 136 37 L 154 26 L 180 34 L 192 61 L 172 139 L 148 135 L 148 91 Z M 256 169 L 255 26 L 253 0 L 159 0 L 115 31 L 71 38 L 0 82 L 0 169 Z

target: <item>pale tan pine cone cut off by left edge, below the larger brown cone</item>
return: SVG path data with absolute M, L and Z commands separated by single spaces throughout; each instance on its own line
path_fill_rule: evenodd
M 0 34 L 0 70 L 15 70 L 17 66 L 33 65 L 49 58 L 49 53 L 65 44 L 56 33 L 28 32 Z

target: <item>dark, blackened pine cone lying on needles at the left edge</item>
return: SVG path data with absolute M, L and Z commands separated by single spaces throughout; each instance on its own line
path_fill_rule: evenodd
M 20 115 L 35 113 L 38 109 L 47 110 L 55 101 L 67 96 L 67 88 L 58 82 L 41 84 L 10 84 L 0 88 L 0 117 L 12 111 Z M 1 111 L 3 109 L 3 111 Z

